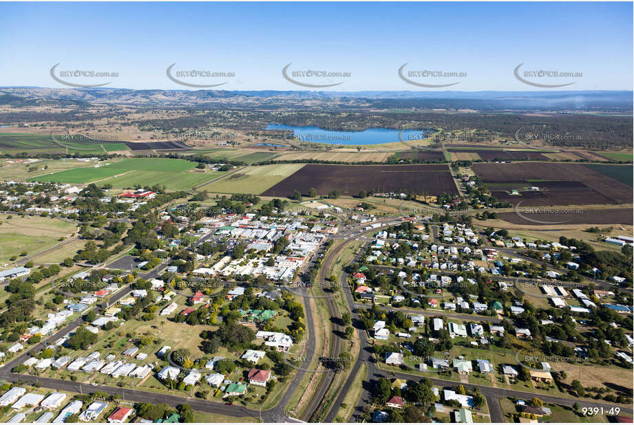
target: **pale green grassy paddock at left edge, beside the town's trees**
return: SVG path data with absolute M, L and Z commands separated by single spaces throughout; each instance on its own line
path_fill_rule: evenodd
M 19 217 L 0 214 L 0 261 L 6 262 L 14 255 L 26 251 L 33 254 L 50 248 L 59 237 L 69 236 L 76 226 L 67 221 L 47 217 Z

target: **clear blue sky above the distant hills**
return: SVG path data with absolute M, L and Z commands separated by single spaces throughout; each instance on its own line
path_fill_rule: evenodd
M 282 76 L 301 70 L 349 77 L 297 77 L 329 91 L 633 88 L 633 3 L 0 3 L 0 86 L 66 87 L 50 76 L 81 69 L 110 78 L 65 78 L 107 87 L 190 89 L 166 76 L 195 69 L 234 77 L 179 78 L 227 90 L 306 90 Z M 410 71 L 466 73 L 421 77 Z M 59 74 L 56 74 L 59 75 Z M 522 74 L 524 75 L 524 74 Z M 442 90 L 444 90 L 443 88 Z M 557 90 L 554 88 L 552 90 Z

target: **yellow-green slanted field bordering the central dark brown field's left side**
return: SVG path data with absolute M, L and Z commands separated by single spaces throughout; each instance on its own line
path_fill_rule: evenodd
M 226 178 L 211 182 L 198 190 L 210 193 L 262 193 L 282 182 L 283 179 L 302 168 L 304 164 L 271 164 L 251 166 Z

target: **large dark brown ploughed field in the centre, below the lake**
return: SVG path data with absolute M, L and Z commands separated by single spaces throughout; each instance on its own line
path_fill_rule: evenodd
M 310 188 L 315 188 L 318 195 L 328 195 L 332 190 L 339 190 L 341 195 L 357 195 L 361 190 L 374 193 L 458 194 L 446 164 L 307 164 L 261 195 L 286 197 L 293 195 L 295 190 L 308 195 Z

